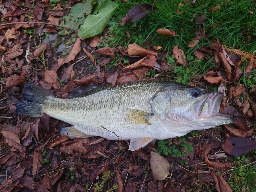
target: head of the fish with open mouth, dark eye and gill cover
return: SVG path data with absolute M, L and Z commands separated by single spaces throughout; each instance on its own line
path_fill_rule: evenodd
M 159 101 L 162 100 L 163 112 L 154 111 L 167 129 L 189 132 L 234 122 L 233 117 L 219 113 L 224 96 L 221 92 L 188 86 L 165 90 L 159 95 L 162 95 Z

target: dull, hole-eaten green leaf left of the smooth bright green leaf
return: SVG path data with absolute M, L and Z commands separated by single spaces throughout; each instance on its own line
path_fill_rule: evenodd
M 61 25 L 70 27 L 72 29 L 78 29 L 80 25 L 84 23 L 84 15 L 89 15 L 92 11 L 92 0 L 87 0 L 85 3 L 78 3 L 72 7 L 70 13 L 63 16 L 63 22 Z M 67 30 L 63 29 L 58 34 L 67 35 Z

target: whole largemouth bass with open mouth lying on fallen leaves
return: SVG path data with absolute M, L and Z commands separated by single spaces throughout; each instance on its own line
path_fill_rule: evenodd
M 47 114 L 72 126 L 61 129 L 70 138 L 101 136 L 130 140 L 135 151 L 156 140 L 180 137 L 193 130 L 234 122 L 219 113 L 224 94 L 171 81 L 140 81 L 90 88 L 74 98 L 59 98 L 33 83 L 26 83 L 18 115 Z

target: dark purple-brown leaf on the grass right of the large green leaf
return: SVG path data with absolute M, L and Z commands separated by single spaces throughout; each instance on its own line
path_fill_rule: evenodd
M 145 17 L 148 13 L 153 11 L 153 6 L 142 3 L 133 6 L 130 11 L 128 12 L 128 17 L 130 17 L 131 22 L 135 22 L 138 19 L 141 19 L 142 17 Z

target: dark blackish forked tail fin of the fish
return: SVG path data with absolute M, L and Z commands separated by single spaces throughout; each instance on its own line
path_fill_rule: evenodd
M 24 99 L 15 104 L 15 111 L 18 115 L 40 117 L 43 115 L 42 106 L 49 96 L 55 97 L 54 94 L 34 83 L 27 83 L 23 89 Z

